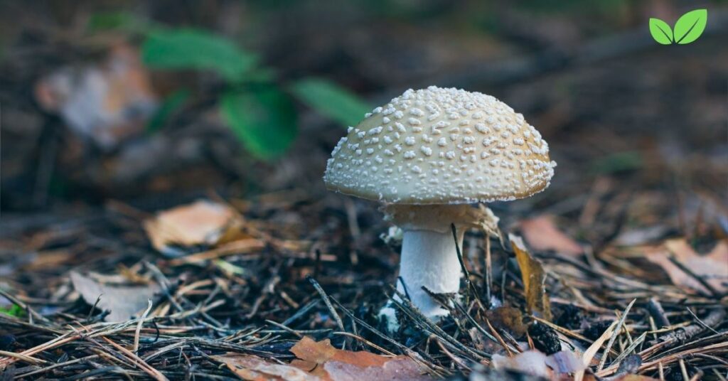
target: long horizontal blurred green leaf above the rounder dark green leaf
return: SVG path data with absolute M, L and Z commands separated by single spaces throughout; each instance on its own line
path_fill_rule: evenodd
M 242 79 L 257 61 L 230 40 L 197 29 L 153 31 L 141 47 L 141 56 L 151 68 L 214 70 L 232 82 Z

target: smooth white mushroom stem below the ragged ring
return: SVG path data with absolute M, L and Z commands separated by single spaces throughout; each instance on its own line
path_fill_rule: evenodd
M 458 245 L 462 246 L 462 231 L 458 233 Z M 400 277 L 397 290 L 409 295 L 413 305 L 427 318 L 438 321 L 448 315 L 422 288 L 435 294 L 456 294 L 460 288 L 460 261 L 451 232 L 408 229 L 404 232 Z

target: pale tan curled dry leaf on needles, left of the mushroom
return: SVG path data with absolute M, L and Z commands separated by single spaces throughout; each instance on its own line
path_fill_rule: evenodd
M 250 237 L 232 208 L 209 200 L 159 212 L 143 225 L 151 245 L 167 256 L 182 254 L 175 246 L 216 246 Z

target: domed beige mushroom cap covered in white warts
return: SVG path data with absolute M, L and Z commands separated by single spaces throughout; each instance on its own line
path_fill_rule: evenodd
M 405 91 L 349 127 L 324 181 L 384 203 L 490 203 L 541 192 L 555 166 L 541 134 L 507 104 L 430 86 Z

